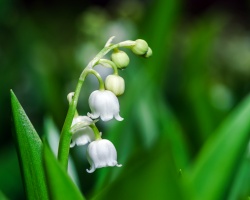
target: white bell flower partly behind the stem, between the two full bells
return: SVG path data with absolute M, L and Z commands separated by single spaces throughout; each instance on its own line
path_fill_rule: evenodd
M 73 119 L 70 129 L 73 134 L 70 147 L 85 145 L 95 140 L 94 131 L 89 127 L 93 123 L 94 121 L 87 116 L 77 116 Z

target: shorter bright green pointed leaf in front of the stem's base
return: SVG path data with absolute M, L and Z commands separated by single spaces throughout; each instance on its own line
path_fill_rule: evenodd
M 85 199 L 68 174 L 58 163 L 47 143 L 44 145 L 43 156 L 50 199 Z

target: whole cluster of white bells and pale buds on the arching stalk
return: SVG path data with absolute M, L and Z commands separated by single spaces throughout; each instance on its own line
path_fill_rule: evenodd
M 87 116 L 79 116 L 76 111 L 70 129 L 72 134 L 70 147 L 88 144 L 87 159 L 90 163 L 90 169 L 87 169 L 88 173 L 94 172 L 97 168 L 122 166 L 117 162 L 117 152 L 114 145 L 109 140 L 101 138 L 102 134 L 95 125 L 99 119 L 105 122 L 113 118 L 117 121 L 123 120 L 119 114 L 120 105 L 118 96 L 122 95 L 125 91 L 125 81 L 119 76 L 118 70 L 125 69 L 130 60 L 128 55 L 119 48 L 130 48 L 136 55 L 146 58 L 152 55 L 152 50 L 144 40 L 128 40 L 114 45 L 111 43 L 112 39 L 113 37 L 105 45 L 107 52 L 113 50 L 111 59 L 102 59 L 101 57 L 104 54 L 98 54 L 81 74 L 79 79 L 81 81 L 89 73 L 94 74 L 99 81 L 100 88 L 93 91 L 89 96 L 88 103 L 91 112 L 87 113 Z M 103 81 L 98 72 L 93 69 L 97 64 L 113 68 L 114 73 L 108 75 L 105 81 Z M 68 95 L 69 102 L 73 100 L 73 96 L 74 93 Z

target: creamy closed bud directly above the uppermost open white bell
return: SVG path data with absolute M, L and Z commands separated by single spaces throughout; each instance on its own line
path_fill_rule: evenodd
M 122 95 L 125 90 L 124 79 L 118 75 L 109 75 L 105 80 L 105 88 L 116 96 Z

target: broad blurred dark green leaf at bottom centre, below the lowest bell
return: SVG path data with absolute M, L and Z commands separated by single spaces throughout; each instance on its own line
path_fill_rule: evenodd
M 135 155 L 122 166 L 126 170 L 121 176 L 93 199 L 184 199 L 168 146 L 160 142 L 151 151 Z

